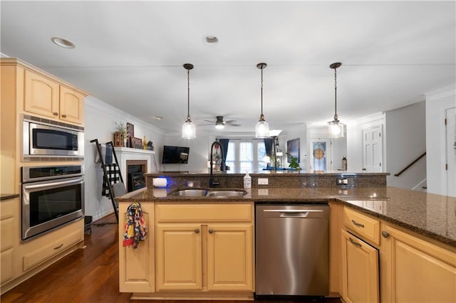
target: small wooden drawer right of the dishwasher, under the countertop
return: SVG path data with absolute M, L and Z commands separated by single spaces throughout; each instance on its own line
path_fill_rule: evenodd
M 351 208 L 343 208 L 343 224 L 361 238 L 380 245 L 380 221 L 370 218 Z

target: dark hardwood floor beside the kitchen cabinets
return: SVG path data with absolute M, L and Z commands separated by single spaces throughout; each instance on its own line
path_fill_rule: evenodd
M 115 223 L 114 215 L 94 222 L 92 233 L 85 235 L 87 246 L 85 249 L 71 253 L 6 292 L 0 297 L 0 302 L 189 302 L 130 300 L 130 293 L 119 292 L 118 230 L 117 224 L 110 223 Z M 264 300 L 265 303 L 298 301 L 314 302 L 311 300 Z M 214 303 L 216 301 L 205 302 Z M 221 302 L 232 303 L 232 301 Z M 318 302 L 341 301 L 340 299 L 323 299 Z

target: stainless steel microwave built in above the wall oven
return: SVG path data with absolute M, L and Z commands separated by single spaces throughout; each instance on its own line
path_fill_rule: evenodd
M 84 128 L 23 115 L 24 160 L 34 157 L 83 157 Z

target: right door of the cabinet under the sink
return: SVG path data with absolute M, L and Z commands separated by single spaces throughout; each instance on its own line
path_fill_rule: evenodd
M 207 226 L 207 289 L 252 289 L 252 224 Z

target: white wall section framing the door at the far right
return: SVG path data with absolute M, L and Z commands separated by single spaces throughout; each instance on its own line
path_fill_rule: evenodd
M 425 95 L 427 192 L 447 195 L 444 119 L 445 109 L 456 107 L 456 85 Z

